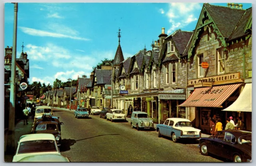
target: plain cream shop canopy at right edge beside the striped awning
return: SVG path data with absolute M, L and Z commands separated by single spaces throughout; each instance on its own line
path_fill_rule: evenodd
M 252 83 L 245 84 L 236 101 L 222 111 L 252 112 Z

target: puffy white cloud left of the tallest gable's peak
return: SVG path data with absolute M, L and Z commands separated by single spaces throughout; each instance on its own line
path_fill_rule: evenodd
M 169 18 L 170 28 L 167 34 L 171 34 L 178 28 L 184 28 L 198 19 L 194 14 L 202 9 L 199 3 L 170 3 L 166 16 Z

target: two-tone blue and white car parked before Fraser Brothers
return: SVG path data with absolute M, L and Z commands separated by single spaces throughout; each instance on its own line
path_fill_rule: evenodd
M 183 118 L 168 118 L 164 124 L 156 124 L 156 131 L 158 137 L 168 136 L 173 142 L 183 138 L 201 138 L 201 130 L 194 128 L 190 120 Z

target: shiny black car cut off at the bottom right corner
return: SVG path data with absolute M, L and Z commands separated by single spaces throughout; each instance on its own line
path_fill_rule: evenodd
M 234 162 L 252 161 L 252 132 L 243 130 L 222 130 L 216 136 L 200 138 L 202 155 L 214 154 Z

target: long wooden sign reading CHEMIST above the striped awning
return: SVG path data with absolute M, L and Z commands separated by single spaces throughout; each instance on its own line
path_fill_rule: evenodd
M 188 81 L 188 86 L 189 85 L 196 85 L 196 84 L 202 84 L 203 82 L 220 82 L 220 81 L 230 81 L 230 80 L 235 80 L 235 79 L 240 79 L 240 72 L 238 73 L 233 73 L 233 74 L 225 74 L 225 75 L 218 75 L 214 77 L 206 77 L 206 78 L 201 78 L 201 79 L 193 79 Z

